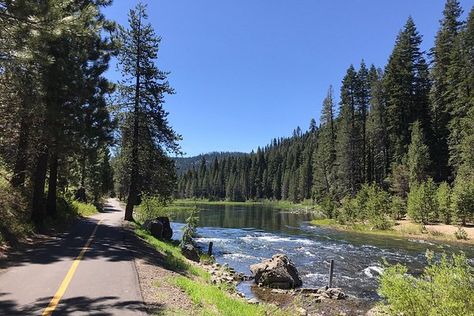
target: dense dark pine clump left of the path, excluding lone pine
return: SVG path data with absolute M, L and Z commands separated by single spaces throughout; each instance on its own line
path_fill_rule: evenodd
M 109 4 L 27 0 L 0 6 L 0 126 L 6 136 L 0 155 L 12 186 L 31 199 L 37 226 L 47 215 L 60 216 L 58 194 L 84 184 L 85 171 L 111 141 L 106 95 L 113 85 L 104 72 L 115 51 L 108 36 L 114 23 L 100 11 Z

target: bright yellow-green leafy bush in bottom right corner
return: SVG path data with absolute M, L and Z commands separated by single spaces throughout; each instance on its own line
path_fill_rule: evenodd
M 428 259 L 419 277 L 400 264 L 385 269 L 379 293 L 387 302 L 386 311 L 406 316 L 474 315 L 474 274 L 466 256 Z

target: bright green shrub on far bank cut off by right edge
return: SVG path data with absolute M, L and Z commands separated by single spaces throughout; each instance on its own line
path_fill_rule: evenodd
M 474 178 L 456 179 L 453 188 L 453 209 L 456 217 L 466 225 L 466 221 L 474 215 Z

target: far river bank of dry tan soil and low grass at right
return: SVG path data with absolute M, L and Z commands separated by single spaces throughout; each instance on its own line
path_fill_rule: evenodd
M 390 236 L 406 239 L 432 240 L 439 242 L 474 245 L 474 226 L 462 227 L 462 229 L 467 234 L 467 239 L 457 239 L 455 233 L 459 226 L 430 224 L 424 225 L 423 227 L 421 224 L 413 223 L 406 219 L 396 221 L 393 228 L 389 230 L 369 229 L 363 224 L 342 225 L 333 219 L 314 219 L 310 223 L 314 226 L 327 227 L 339 231 L 347 231 L 372 236 Z

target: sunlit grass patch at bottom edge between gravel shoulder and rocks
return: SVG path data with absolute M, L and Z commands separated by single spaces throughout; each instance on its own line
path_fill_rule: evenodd
M 202 308 L 202 315 L 285 315 L 277 307 L 249 304 L 241 299 L 231 297 L 217 286 L 199 280 L 179 276 L 171 279 L 170 282 L 184 290 L 193 303 Z

